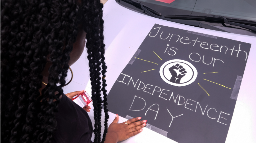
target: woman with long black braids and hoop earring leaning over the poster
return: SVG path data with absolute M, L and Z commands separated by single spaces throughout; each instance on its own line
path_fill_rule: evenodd
M 100 81 L 107 66 L 99 0 L 1 0 L 0 5 L 1 142 L 91 142 L 92 123 L 86 113 L 90 107 L 82 109 L 70 100 L 83 91 L 67 97 L 62 90 L 69 66 L 84 50 L 85 39 L 94 142 L 118 142 L 142 131 L 146 120 L 134 118 L 117 124 L 118 115 L 107 129 L 107 85 L 102 78 L 101 87 Z M 102 103 L 105 130 L 101 140 Z

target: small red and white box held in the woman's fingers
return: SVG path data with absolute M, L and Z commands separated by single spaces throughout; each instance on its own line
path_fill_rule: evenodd
M 80 107 L 84 107 L 92 102 L 91 97 L 86 91 L 73 97 L 72 101 L 78 104 Z

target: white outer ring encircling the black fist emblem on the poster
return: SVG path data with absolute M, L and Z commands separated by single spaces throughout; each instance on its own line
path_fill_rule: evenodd
M 186 63 L 187 65 L 189 65 L 192 70 L 194 71 L 194 76 L 192 77 L 192 79 L 186 83 L 183 83 L 183 84 L 176 84 L 176 83 L 173 83 L 173 82 L 170 82 L 169 80 L 167 80 L 165 77 L 164 77 L 164 74 L 163 74 L 163 69 L 166 65 L 168 65 L 169 63 L 173 63 L 173 62 L 181 62 L 181 63 Z M 194 82 L 196 80 L 196 77 L 197 77 L 197 70 L 196 68 L 191 64 L 189 63 L 188 61 L 184 61 L 182 59 L 172 59 L 170 61 L 166 61 L 161 67 L 160 67 L 160 70 L 159 70 L 159 73 L 160 73 L 160 76 L 162 78 L 162 80 L 164 80 L 164 82 L 170 84 L 170 85 L 173 85 L 173 86 L 186 86 L 186 85 L 189 85 L 191 84 L 192 82 Z

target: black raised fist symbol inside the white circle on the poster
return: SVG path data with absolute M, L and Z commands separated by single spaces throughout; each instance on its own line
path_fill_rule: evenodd
M 181 65 L 178 63 L 176 65 L 173 65 L 169 68 L 170 73 L 172 74 L 172 78 L 170 79 L 170 82 L 173 83 L 180 83 L 180 79 L 185 76 L 186 69 L 184 69 Z

